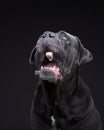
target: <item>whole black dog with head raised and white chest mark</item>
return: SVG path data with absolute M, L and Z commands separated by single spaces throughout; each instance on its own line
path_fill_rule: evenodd
M 65 31 L 46 31 L 39 37 L 29 59 L 40 79 L 31 111 L 34 130 L 102 130 L 90 91 L 78 75 L 79 66 L 92 58 Z

